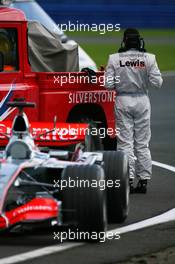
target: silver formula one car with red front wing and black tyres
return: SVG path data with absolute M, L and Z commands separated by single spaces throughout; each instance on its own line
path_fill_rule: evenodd
M 10 102 L 19 109 L 8 143 L 0 152 L 0 230 L 70 226 L 104 232 L 128 214 L 128 159 L 122 152 L 39 148 L 23 111 L 33 103 Z M 53 129 L 55 130 L 56 127 Z M 52 130 L 52 131 L 53 131 Z M 50 133 L 47 131 L 46 133 Z M 70 142 L 69 142 L 70 143 Z

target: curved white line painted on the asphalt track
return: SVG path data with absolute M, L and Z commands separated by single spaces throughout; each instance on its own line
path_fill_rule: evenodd
M 167 165 L 167 164 L 163 164 L 157 161 L 153 161 L 152 162 L 153 165 L 161 167 L 163 169 L 175 172 L 175 167 Z M 158 225 L 158 224 L 162 224 L 162 223 L 166 223 L 166 222 L 170 222 L 170 221 L 175 221 L 175 208 L 172 210 L 169 210 L 161 215 L 128 225 L 128 226 L 124 226 L 124 227 L 120 227 L 120 228 L 116 228 L 116 229 L 112 229 L 106 232 L 106 237 L 108 235 L 111 236 L 111 233 L 113 234 L 113 236 L 116 236 L 116 234 L 124 234 L 124 233 L 128 233 L 128 232 L 132 232 L 135 230 L 139 230 L 139 229 L 143 229 L 146 227 L 150 227 L 150 226 L 154 226 L 154 225 Z M 20 263 L 20 262 L 24 262 L 30 259 L 34 259 L 34 258 L 39 258 L 39 257 L 43 257 L 46 255 L 50 255 L 50 254 L 54 254 L 54 253 L 58 253 L 58 252 L 62 252 L 68 249 L 72 249 L 72 248 L 76 248 L 76 247 L 80 247 L 85 245 L 85 243 L 64 243 L 64 244 L 59 244 L 57 246 L 49 246 L 49 247 L 44 247 L 41 249 L 36 249 L 33 251 L 29 251 L 26 253 L 21 253 L 18 255 L 14 255 L 14 256 L 10 256 L 10 257 L 6 257 L 6 258 L 1 258 L 0 259 L 0 264 L 15 264 L 15 263 Z

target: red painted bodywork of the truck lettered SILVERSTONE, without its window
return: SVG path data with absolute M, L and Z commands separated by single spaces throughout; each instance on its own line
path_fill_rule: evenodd
M 16 19 L 15 19 L 16 17 Z M 104 72 L 97 73 L 97 83 L 81 83 L 82 76 L 86 73 L 48 73 L 32 72 L 27 53 L 27 21 L 23 13 L 17 9 L 0 8 L 0 28 L 16 28 L 18 31 L 19 71 L 0 73 L 0 101 L 9 91 L 11 83 L 15 81 L 16 87 L 11 100 L 25 97 L 26 101 L 35 102 L 35 109 L 26 109 L 26 114 L 32 122 L 51 122 L 55 115 L 58 122 L 67 122 L 70 112 L 76 106 L 91 110 L 96 106 L 100 111 L 100 118 L 104 115 L 108 127 L 115 129 L 114 98 L 115 92 L 107 91 L 101 86 Z M 70 75 L 70 76 L 69 76 Z M 54 83 L 55 77 L 76 77 L 72 83 L 61 85 Z M 94 120 L 96 119 L 94 110 Z M 81 111 L 80 111 L 81 113 Z M 12 120 L 15 111 L 7 118 Z M 41 125 L 42 126 L 42 125 Z M 113 134 L 112 137 L 115 135 Z

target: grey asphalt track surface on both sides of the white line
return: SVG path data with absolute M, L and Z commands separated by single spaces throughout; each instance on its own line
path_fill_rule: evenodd
M 152 159 L 175 167 L 175 77 L 164 77 L 163 88 L 152 90 L 150 97 L 152 103 Z M 130 196 L 129 217 L 120 226 L 127 226 L 174 208 L 174 190 L 175 173 L 153 166 L 153 177 L 148 193 Z M 109 226 L 108 229 L 120 226 Z M 1 259 L 3 258 L 50 245 L 60 247 L 59 241 L 53 240 L 52 233 L 45 236 L 37 235 L 37 233 L 1 236 L 0 263 L 2 263 Z M 172 221 L 121 234 L 119 240 L 113 239 L 99 244 L 83 244 L 73 249 L 44 257 L 40 256 L 21 263 L 115 264 L 130 260 L 133 256 L 161 251 L 174 245 L 175 221 Z

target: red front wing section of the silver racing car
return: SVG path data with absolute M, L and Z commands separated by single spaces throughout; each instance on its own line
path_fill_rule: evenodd
M 24 221 L 41 221 L 57 218 L 58 214 L 59 206 L 56 200 L 51 198 L 34 198 L 25 205 L 8 211 L 4 213 L 3 216 L 1 215 L 0 229 L 4 229 Z

